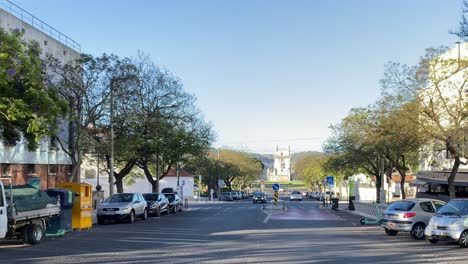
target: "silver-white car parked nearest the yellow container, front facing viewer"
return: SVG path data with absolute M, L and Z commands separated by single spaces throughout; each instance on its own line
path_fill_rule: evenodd
M 116 193 L 107 198 L 97 209 L 97 221 L 104 224 L 106 220 L 135 222 L 136 217 L 148 218 L 147 203 L 139 193 Z

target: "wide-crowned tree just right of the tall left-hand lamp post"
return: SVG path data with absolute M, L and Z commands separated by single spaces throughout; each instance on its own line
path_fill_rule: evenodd
M 212 128 L 195 106 L 196 98 L 184 91 L 178 78 L 143 54 L 133 63 L 139 79 L 132 101 L 134 127 L 139 131 L 133 139 L 137 145 L 136 165 L 143 169 L 156 192 L 159 180 L 171 168 L 204 152 L 212 141 Z

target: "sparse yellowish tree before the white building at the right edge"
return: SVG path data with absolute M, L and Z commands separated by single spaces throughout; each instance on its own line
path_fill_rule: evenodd
M 429 48 L 417 66 L 389 63 L 385 71 L 385 89 L 402 100 L 413 102 L 418 115 L 406 115 L 424 134 L 436 151 L 432 158 L 441 160 L 447 153 L 451 164 L 448 186 L 455 198 L 454 180 L 460 165 L 466 162 L 466 83 L 468 60 L 456 51 Z

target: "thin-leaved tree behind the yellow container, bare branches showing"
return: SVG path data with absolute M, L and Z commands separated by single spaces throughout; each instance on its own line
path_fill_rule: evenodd
M 86 153 L 93 151 L 103 138 L 103 123 L 109 116 L 111 78 L 124 63 L 116 55 L 93 57 L 81 54 L 75 61 L 62 63 L 52 55 L 46 59 L 49 78 L 58 80 L 60 95 L 70 109 L 67 116 L 68 138 L 58 137 L 61 149 L 70 157 L 70 181 L 79 177 Z

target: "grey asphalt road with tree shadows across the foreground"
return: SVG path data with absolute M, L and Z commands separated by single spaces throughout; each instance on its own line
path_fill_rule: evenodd
M 307 200 L 268 210 L 250 200 L 192 204 L 134 224 L 97 225 L 39 245 L 0 243 L 1 263 L 467 263 L 468 249 L 388 237 Z

